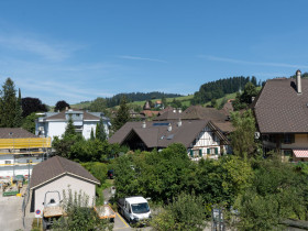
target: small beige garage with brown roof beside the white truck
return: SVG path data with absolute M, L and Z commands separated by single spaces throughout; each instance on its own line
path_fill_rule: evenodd
M 45 195 L 47 202 L 54 199 L 57 204 L 63 200 L 64 190 L 68 195 L 68 189 L 72 189 L 73 195 L 75 195 L 75 191 L 87 195 L 89 199 L 88 206 L 92 206 L 96 185 L 99 184 L 100 182 L 80 164 L 61 156 L 54 156 L 33 168 L 30 182 L 32 191 L 31 212 L 37 209 L 42 211 Z M 46 194 L 47 191 L 50 193 Z

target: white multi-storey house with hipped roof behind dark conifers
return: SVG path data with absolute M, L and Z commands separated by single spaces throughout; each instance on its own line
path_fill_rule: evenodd
M 41 113 L 35 121 L 35 134 L 45 138 L 61 136 L 64 134 L 69 118 L 72 118 L 76 132 L 85 139 L 90 139 L 91 130 L 96 132 L 97 123 L 103 121 L 105 132 L 109 134 L 110 119 L 101 112 L 88 112 L 68 109 L 62 112 Z

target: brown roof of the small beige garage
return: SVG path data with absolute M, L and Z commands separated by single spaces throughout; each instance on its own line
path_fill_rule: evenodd
M 61 156 L 54 156 L 33 167 L 30 188 L 36 188 L 65 174 L 92 182 L 97 185 L 100 184 L 99 180 L 80 164 Z

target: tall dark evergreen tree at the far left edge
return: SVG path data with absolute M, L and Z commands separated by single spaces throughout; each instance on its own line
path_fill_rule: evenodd
M 16 114 L 16 90 L 14 82 L 8 78 L 2 86 L 0 101 L 0 127 L 14 128 Z

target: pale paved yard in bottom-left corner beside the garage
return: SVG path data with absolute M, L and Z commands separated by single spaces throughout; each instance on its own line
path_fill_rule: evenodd
M 1 231 L 23 230 L 21 211 L 22 200 L 22 197 L 2 197 L 2 194 L 0 195 Z

